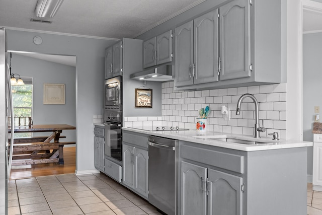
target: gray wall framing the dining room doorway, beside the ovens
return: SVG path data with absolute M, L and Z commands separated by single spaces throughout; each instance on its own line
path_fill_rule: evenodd
M 33 43 L 36 35 L 41 45 Z M 7 30 L 7 36 L 8 50 L 76 56 L 76 173 L 96 171 L 93 115 L 102 114 L 105 48 L 115 41 L 18 30 Z

